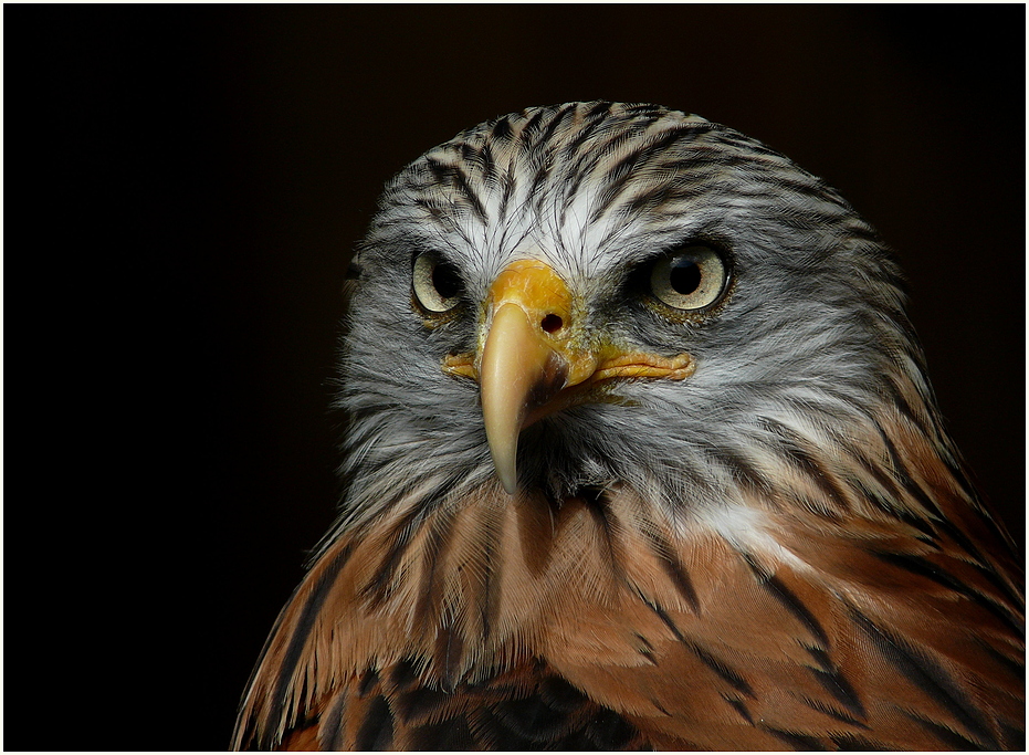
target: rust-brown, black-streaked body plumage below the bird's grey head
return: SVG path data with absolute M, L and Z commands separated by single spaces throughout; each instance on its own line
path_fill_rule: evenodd
M 790 562 L 683 544 L 618 491 L 500 495 L 326 553 L 237 745 L 1021 746 L 1017 569 L 981 515 L 976 542 L 944 522 L 780 515 Z M 484 541 L 489 562 L 470 545 Z

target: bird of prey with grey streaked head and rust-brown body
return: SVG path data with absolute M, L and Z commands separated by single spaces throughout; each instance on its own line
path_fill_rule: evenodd
M 235 748 L 1025 748 L 1015 546 L 820 179 L 534 107 L 403 169 L 349 286 L 342 514 Z

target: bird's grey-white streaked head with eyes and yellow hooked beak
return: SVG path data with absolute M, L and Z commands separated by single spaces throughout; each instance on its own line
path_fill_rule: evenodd
M 657 106 L 460 134 L 388 185 L 355 265 L 351 518 L 497 483 L 628 484 L 689 515 L 886 396 L 927 403 L 874 231 L 760 143 Z

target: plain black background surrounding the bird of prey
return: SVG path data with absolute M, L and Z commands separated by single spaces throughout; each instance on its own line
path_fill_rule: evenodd
M 4 7 L 4 747 L 228 745 L 333 518 L 348 253 L 529 105 L 694 112 L 840 189 L 1021 542 L 1025 12 Z

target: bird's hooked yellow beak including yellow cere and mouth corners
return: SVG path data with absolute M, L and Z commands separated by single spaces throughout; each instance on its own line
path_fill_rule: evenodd
M 596 399 L 590 388 L 601 380 L 681 380 L 695 369 L 689 354 L 661 357 L 590 339 L 574 316 L 571 292 L 557 273 L 537 260 L 513 262 L 490 286 L 486 337 L 477 358 L 460 354 L 443 360 L 444 371 L 479 380 L 493 465 L 511 494 L 517 491 L 524 428 Z

